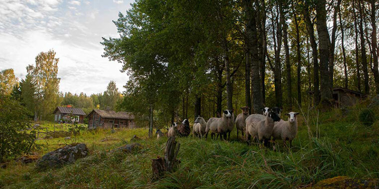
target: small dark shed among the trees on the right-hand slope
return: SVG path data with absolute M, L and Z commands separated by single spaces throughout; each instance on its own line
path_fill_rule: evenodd
M 307 93 L 309 95 L 313 95 L 313 91 L 307 91 Z M 335 100 L 337 106 L 352 106 L 367 97 L 368 95 L 358 91 L 353 91 L 342 87 L 333 88 L 333 99 Z

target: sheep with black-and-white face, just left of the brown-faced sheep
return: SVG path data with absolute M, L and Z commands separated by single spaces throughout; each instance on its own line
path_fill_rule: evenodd
M 218 135 L 220 135 L 220 139 L 222 139 L 222 136 L 224 136 L 224 139 L 226 139 L 226 134 L 229 132 L 229 138 L 230 138 L 230 132 L 233 129 L 234 125 L 234 114 L 232 110 L 224 110 L 222 113 L 222 117 L 211 117 L 206 122 L 206 129 L 205 129 L 205 139 L 208 136 L 209 131 L 211 131 L 210 135 L 213 139 L 213 136 L 215 133 L 217 133 L 216 140 L 218 138 Z

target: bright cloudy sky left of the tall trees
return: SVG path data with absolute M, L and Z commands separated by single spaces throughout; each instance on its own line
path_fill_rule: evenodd
M 18 78 L 35 56 L 53 49 L 59 58 L 59 90 L 87 95 L 105 91 L 109 81 L 128 80 L 121 64 L 101 57 L 101 37 L 117 37 L 112 20 L 134 0 L 0 0 L 0 70 Z

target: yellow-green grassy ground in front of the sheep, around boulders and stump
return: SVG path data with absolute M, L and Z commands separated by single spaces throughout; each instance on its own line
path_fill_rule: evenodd
M 37 171 L 35 163 L 11 161 L 0 169 L 0 188 L 306 188 L 337 176 L 379 178 L 379 121 L 365 127 L 355 111 L 317 114 L 298 116 L 299 132 L 290 151 L 281 141 L 278 151 L 248 146 L 240 135 L 237 139 L 235 128 L 230 141 L 178 138 L 182 163 L 160 180 L 152 179 L 151 160 L 163 156 L 167 137 L 148 138 L 146 128 L 83 131 L 76 142 L 87 145 L 87 157 L 46 171 Z M 109 152 L 131 143 L 134 135 L 143 149 Z M 75 137 L 36 142 L 42 156 L 74 143 Z

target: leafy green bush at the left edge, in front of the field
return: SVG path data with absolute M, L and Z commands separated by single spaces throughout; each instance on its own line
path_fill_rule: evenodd
M 27 131 L 29 114 L 18 101 L 0 95 L 0 162 L 31 149 L 35 133 Z

